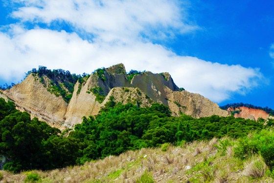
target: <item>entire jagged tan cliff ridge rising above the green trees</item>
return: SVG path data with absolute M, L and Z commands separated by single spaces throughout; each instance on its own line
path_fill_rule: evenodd
M 46 76 L 44 76 L 45 80 Z M 98 92 L 106 96 L 98 102 Z M 21 111 L 27 111 L 32 117 L 48 122 L 60 128 L 72 128 L 82 122 L 83 116 L 96 115 L 101 107 L 114 96 L 115 102 L 136 103 L 141 107 L 160 102 L 170 107 L 173 115 L 185 113 L 195 118 L 211 115 L 228 116 L 228 111 L 199 94 L 180 92 L 168 73 L 154 74 L 143 72 L 129 81 L 123 64 L 117 64 L 86 77 L 82 83 L 74 86 L 72 98 L 67 103 L 61 96 L 56 97 L 32 74 L 11 89 L 1 91 L 0 97 L 15 102 Z

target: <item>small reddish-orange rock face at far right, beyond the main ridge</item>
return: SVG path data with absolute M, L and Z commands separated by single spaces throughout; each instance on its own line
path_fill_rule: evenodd
M 260 109 L 252 109 L 248 107 L 229 107 L 228 108 L 228 114 L 230 115 L 233 111 L 235 118 L 244 118 L 244 119 L 250 119 L 250 120 L 258 120 L 258 118 L 263 118 L 264 120 L 269 118 L 269 114 L 263 110 Z

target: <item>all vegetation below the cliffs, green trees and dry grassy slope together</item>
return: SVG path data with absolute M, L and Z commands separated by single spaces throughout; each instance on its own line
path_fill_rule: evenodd
M 272 124 L 173 117 L 158 103 L 140 108 L 111 97 L 99 115 L 61 133 L 0 99 L 0 163 L 26 171 L 1 171 L 0 181 L 266 182 L 274 169 Z

